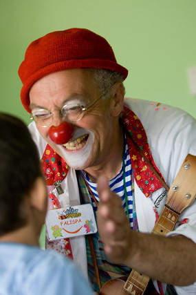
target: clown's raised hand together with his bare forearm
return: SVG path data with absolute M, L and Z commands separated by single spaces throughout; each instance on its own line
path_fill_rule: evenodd
M 120 198 L 110 191 L 103 176 L 98 179 L 98 193 L 98 231 L 113 263 L 127 265 L 171 285 L 195 282 L 196 248 L 192 240 L 185 236 L 164 237 L 132 231 Z

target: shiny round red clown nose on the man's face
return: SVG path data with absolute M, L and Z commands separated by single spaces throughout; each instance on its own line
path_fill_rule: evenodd
M 51 126 L 48 135 L 55 144 L 66 144 L 74 134 L 74 126 L 67 122 L 62 122 L 58 126 Z

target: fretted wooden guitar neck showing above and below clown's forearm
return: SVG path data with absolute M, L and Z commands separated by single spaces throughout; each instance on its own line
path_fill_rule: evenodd
M 176 222 L 179 218 L 179 213 L 175 212 L 173 209 L 164 206 L 164 210 L 160 215 L 160 218 L 157 220 L 155 227 L 153 228 L 152 233 L 162 236 L 166 236 L 170 231 L 172 231 L 176 225 Z M 149 283 L 151 278 L 136 272 L 134 269 L 129 274 L 127 281 L 124 285 L 126 289 L 131 294 L 144 294 L 144 291 Z

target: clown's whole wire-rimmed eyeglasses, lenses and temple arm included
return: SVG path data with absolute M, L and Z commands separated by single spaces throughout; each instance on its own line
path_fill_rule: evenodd
M 94 102 L 91 102 L 88 106 L 82 106 L 80 104 L 65 104 L 61 109 L 48 111 L 45 108 L 39 108 L 38 110 L 32 111 L 32 115 L 30 116 L 30 120 L 34 120 L 36 124 L 48 127 L 52 124 L 52 115 L 54 111 L 59 111 L 63 120 L 71 123 L 75 123 L 80 121 L 83 118 L 85 111 L 89 111 L 89 109 L 98 102 L 105 93 L 111 88 L 113 85 L 110 85 L 101 95 L 99 95 Z

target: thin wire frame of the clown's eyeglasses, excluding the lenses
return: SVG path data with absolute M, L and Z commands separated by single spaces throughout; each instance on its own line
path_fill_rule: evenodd
M 78 122 L 78 121 L 82 120 L 82 119 L 83 119 L 84 112 L 87 111 L 87 110 L 89 110 L 89 108 L 91 108 L 92 106 L 94 106 L 94 104 L 96 104 L 96 102 L 98 102 L 98 99 L 100 99 L 103 95 L 105 95 L 105 93 L 107 93 L 107 91 L 109 90 L 109 88 L 111 88 L 114 84 L 116 84 L 116 82 L 113 83 L 113 84 L 111 84 L 109 87 L 107 87 L 107 88 L 105 89 L 105 91 L 103 91 L 103 93 L 101 93 L 100 95 L 98 95 L 98 97 L 96 97 L 96 99 L 95 99 L 93 102 L 91 102 L 91 104 L 89 104 L 89 106 L 81 106 L 81 111 L 83 111 L 83 113 L 82 113 L 82 117 L 80 117 L 80 119 L 75 120 L 75 121 L 69 121 L 69 120 L 67 120 L 67 122 L 70 122 L 70 123 L 73 124 L 73 123 L 75 123 L 75 122 Z M 48 112 L 50 112 L 51 117 L 52 117 L 52 112 L 53 112 L 53 111 L 59 111 L 61 117 L 63 117 L 63 115 L 62 115 L 62 110 L 63 110 L 63 108 L 64 108 L 66 105 L 67 105 L 67 104 L 64 104 L 64 106 L 62 106 L 62 108 L 60 108 L 60 109 L 54 109 L 54 110 L 51 110 L 51 111 L 48 111 L 46 108 L 39 108 L 39 111 L 42 111 L 42 110 L 48 111 Z M 34 115 L 32 115 L 32 114 L 30 115 L 30 120 L 34 120 Z M 51 124 L 52 124 L 52 122 L 51 122 L 50 125 L 41 125 L 41 124 L 38 124 L 38 123 L 36 122 L 36 120 L 34 120 L 34 122 L 35 122 L 37 125 L 42 126 L 42 127 L 49 127 L 49 126 L 51 126 Z

